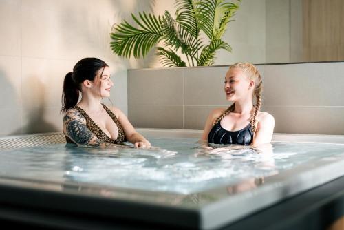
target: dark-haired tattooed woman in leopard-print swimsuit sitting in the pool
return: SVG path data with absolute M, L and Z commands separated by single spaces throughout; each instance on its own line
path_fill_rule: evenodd
M 65 76 L 61 112 L 65 112 L 63 133 L 67 143 L 114 147 L 129 140 L 135 147 L 151 147 L 120 109 L 107 107 L 100 102 L 102 98 L 110 96 L 113 85 L 109 66 L 96 58 L 78 61 L 73 72 Z M 78 101 L 80 93 L 81 99 Z

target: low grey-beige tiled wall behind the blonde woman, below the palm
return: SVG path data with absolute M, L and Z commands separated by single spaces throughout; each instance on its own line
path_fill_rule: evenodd
M 344 63 L 258 65 L 262 110 L 275 132 L 344 134 Z M 203 129 L 212 109 L 227 107 L 228 66 L 128 70 L 129 119 L 136 127 Z

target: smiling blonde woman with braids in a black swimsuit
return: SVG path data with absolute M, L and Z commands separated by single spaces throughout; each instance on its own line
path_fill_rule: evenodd
M 227 109 L 215 109 L 208 116 L 202 140 L 214 144 L 259 145 L 270 143 L 275 119 L 261 112 L 261 76 L 250 63 L 235 63 L 229 67 L 224 81 Z M 255 105 L 253 105 L 255 97 Z

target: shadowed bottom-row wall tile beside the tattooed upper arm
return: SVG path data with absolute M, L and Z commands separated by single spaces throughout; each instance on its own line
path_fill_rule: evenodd
M 60 107 L 25 107 L 22 116 L 23 134 L 62 131 Z

